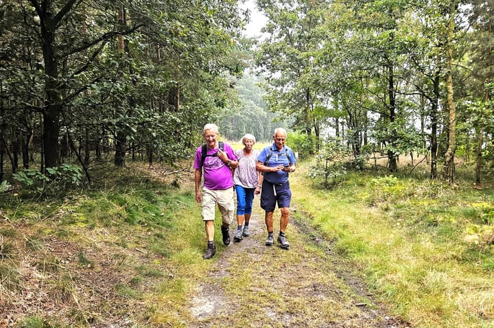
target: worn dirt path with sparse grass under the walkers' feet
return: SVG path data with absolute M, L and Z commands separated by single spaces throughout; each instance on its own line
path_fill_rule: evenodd
M 373 302 L 308 224 L 291 219 L 291 247 L 283 250 L 264 246 L 261 218 L 260 210 L 252 214 L 250 237 L 217 246 L 213 270 L 191 298 L 187 327 L 410 327 Z

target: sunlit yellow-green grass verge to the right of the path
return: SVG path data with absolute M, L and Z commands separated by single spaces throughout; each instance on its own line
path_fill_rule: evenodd
M 294 201 L 373 292 L 414 327 L 494 327 L 494 194 L 378 172 L 319 189 L 298 171 Z

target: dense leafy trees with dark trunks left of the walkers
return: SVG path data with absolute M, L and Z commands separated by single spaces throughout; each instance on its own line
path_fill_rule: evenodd
M 187 158 L 200 127 L 235 99 L 229 78 L 249 59 L 237 1 L 0 6 L 2 138 L 47 167 L 117 156 L 114 142 L 119 156 Z

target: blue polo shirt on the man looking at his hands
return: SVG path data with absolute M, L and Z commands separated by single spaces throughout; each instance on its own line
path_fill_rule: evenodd
M 268 159 L 268 156 L 270 158 Z M 268 162 L 266 163 L 266 159 Z M 283 165 L 292 165 L 295 164 L 295 156 L 292 151 L 292 148 L 287 145 L 283 146 L 283 149 L 280 151 L 276 148 L 276 145 L 272 143 L 272 145 L 268 145 L 264 148 L 259 156 L 257 156 L 257 161 L 264 163 L 264 165 L 269 167 L 275 167 L 280 164 Z M 268 181 L 268 183 L 279 184 L 285 183 L 288 180 L 288 172 L 277 171 L 277 172 L 263 172 L 264 180 Z

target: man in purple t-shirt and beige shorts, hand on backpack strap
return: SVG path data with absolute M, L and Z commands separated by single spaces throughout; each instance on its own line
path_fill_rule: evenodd
M 205 223 L 207 249 L 204 259 L 211 259 L 216 253 L 214 244 L 214 220 L 216 204 L 222 215 L 223 244 L 230 244 L 228 228 L 233 222 L 233 176 L 232 170 L 238 165 L 233 148 L 223 143 L 223 150 L 218 143 L 218 128 L 215 124 L 204 126 L 202 137 L 206 141 L 206 156 L 202 156 L 202 146 L 196 151 L 194 159 L 196 201 L 201 203 L 202 220 Z M 204 163 L 202 159 L 204 158 Z M 204 172 L 204 183 L 200 189 L 201 176 Z

